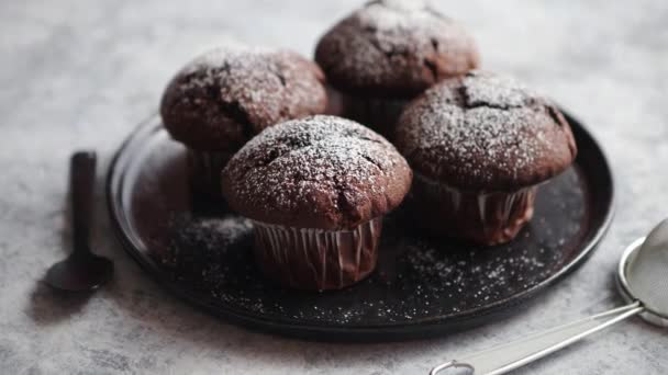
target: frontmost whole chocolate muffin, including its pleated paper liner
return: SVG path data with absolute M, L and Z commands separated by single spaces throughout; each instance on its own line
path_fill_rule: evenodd
M 255 255 L 270 279 L 336 289 L 376 266 L 382 216 L 411 185 L 407 161 L 349 120 L 316 115 L 272 126 L 223 170 L 223 192 L 254 220 Z

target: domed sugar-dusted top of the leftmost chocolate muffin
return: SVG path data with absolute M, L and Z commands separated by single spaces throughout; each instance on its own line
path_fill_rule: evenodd
M 291 50 L 219 48 L 171 79 L 160 115 L 189 148 L 234 152 L 268 126 L 324 112 L 323 81 L 314 63 Z

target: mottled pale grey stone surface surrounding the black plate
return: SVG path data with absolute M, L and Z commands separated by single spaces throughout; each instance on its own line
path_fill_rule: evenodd
M 0 3 L 0 373 L 424 374 L 456 353 L 620 303 L 623 247 L 668 215 L 668 3 L 438 1 L 510 71 L 587 123 L 616 173 L 617 214 L 579 272 L 508 320 L 437 340 L 321 344 L 253 333 L 166 295 L 113 239 L 98 194 L 94 249 L 115 280 L 88 300 L 38 283 L 67 251 L 67 160 L 103 159 L 155 110 L 176 69 L 229 39 L 311 55 L 358 1 Z M 102 182 L 100 168 L 100 183 Z M 666 374 L 666 331 L 634 319 L 521 374 Z M 260 372 L 261 371 L 261 372 Z

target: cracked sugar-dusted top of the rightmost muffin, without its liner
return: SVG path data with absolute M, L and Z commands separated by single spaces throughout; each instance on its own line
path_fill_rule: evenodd
M 416 173 L 468 190 L 511 191 L 543 182 L 577 148 L 557 107 L 515 80 L 471 71 L 415 99 L 399 120 L 397 148 Z

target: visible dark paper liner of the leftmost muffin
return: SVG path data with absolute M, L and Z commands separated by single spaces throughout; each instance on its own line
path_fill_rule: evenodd
M 225 204 L 221 188 L 221 172 L 232 158 L 229 152 L 188 149 L 188 178 L 194 211 L 222 209 Z

